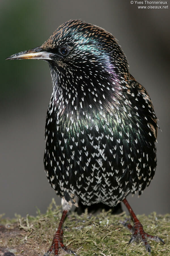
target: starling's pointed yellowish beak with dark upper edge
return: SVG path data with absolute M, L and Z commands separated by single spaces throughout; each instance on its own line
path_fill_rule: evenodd
M 36 47 L 31 50 L 21 51 L 19 53 L 13 54 L 6 59 L 44 59 L 44 60 L 52 60 L 52 55 L 54 53 L 50 53 L 47 51 L 43 51 L 41 47 Z

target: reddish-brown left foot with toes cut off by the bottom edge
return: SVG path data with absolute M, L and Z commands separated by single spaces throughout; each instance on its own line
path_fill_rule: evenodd
M 52 244 L 51 244 L 49 250 L 44 254 L 44 256 L 49 256 L 53 251 L 54 251 L 54 255 L 58 256 L 59 247 L 61 247 L 61 249 L 63 249 L 63 251 L 65 251 L 66 253 L 74 254 L 75 256 L 78 256 L 74 251 L 72 251 L 71 249 L 68 249 L 63 244 L 63 229 L 57 230 L 57 232 L 53 238 Z

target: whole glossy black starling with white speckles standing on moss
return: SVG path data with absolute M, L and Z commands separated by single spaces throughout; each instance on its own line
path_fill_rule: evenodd
M 123 202 L 134 222 L 129 243 L 148 240 L 126 197 L 139 195 L 156 169 L 157 117 L 146 89 L 129 73 L 128 60 L 116 38 L 82 20 L 69 20 L 41 46 L 7 59 L 48 62 L 53 91 L 46 115 L 44 168 L 61 197 L 62 216 L 44 256 L 63 243 L 63 222 L 72 205 Z

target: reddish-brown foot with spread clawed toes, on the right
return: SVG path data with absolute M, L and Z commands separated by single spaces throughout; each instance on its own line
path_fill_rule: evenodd
M 144 231 L 143 226 L 139 220 L 137 220 L 133 226 L 131 224 L 125 223 L 125 222 L 123 224 L 125 227 L 127 227 L 132 232 L 132 237 L 129 240 L 128 245 L 130 243 L 133 243 L 134 241 L 137 241 L 137 242 L 143 241 L 146 251 L 148 251 L 148 253 L 150 254 L 151 248 L 150 248 L 150 245 L 148 244 L 147 239 L 154 240 L 156 242 L 162 242 L 163 244 L 165 244 L 165 242 L 160 237 L 151 236 L 151 235 L 147 234 Z

